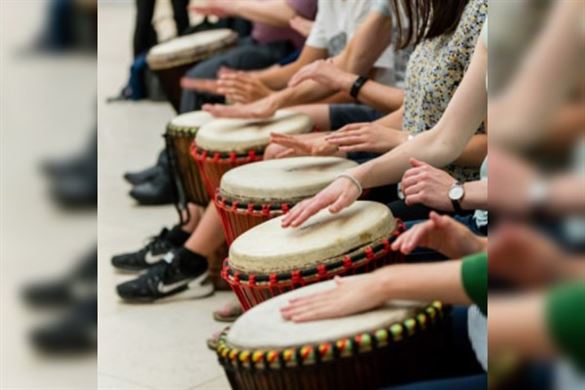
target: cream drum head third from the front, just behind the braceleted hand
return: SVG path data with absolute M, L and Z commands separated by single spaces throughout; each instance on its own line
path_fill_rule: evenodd
M 232 169 L 221 179 L 222 195 L 240 201 L 292 201 L 315 195 L 357 163 L 341 157 L 293 157 Z

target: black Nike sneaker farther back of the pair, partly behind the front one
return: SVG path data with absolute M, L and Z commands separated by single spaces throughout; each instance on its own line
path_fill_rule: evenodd
M 142 271 L 158 264 L 168 251 L 182 245 L 169 240 L 170 230 L 164 228 L 158 236 L 152 237 L 148 244 L 137 252 L 124 253 L 112 257 L 112 265 L 126 271 Z

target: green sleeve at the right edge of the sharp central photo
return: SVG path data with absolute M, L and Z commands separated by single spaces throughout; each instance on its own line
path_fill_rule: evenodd
M 461 280 L 465 293 L 483 315 L 487 316 L 487 253 L 464 257 L 461 264 Z

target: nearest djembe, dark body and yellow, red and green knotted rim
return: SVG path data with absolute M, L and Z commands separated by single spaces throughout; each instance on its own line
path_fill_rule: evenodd
M 378 389 L 437 374 L 448 323 L 440 302 L 390 301 L 364 313 L 304 323 L 282 318 L 280 308 L 290 299 L 333 287 L 328 281 L 278 296 L 225 330 L 216 352 L 232 388 Z

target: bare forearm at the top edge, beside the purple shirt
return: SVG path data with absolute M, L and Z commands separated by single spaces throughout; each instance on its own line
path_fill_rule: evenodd
M 234 15 L 275 27 L 288 27 L 296 14 L 284 0 L 234 0 L 232 7 Z

